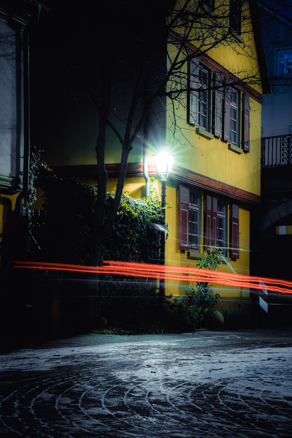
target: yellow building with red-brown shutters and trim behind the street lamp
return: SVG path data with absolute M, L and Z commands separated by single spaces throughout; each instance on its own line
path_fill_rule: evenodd
M 221 270 L 249 275 L 250 211 L 260 203 L 261 103 L 263 91 L 269 92 L 257 9 L 243 2 L 234 15 L 234 3 L 239 2 L 203 3 L 211 19 L 219 14 L 227 20 L 217 32 L 227 26 L 234 38 L 215 47 L 212 41 L 203 45 L 193 39 L 179 55 L 187 91 L 175 111 L 167 97 L 164 143 L 174 165 L 166 190 L 166 202 L 172 208 L 166 209 L 165 264 L 195 267 L 204 250 L 217 244 L 222 247 Z M 168 46 L 169 65 L 179 50 L 180 37 L 178 28 Z M 155 173 L 152 155 L 159 146 L 148 143 L 150 175 Z M 114 167 L 108 165 L 109 177 Z M 128 165 L 125 190 L 135 197 L 144 195 L 142 170 L 142 162 Z M 108 190 L 114 191 L 115 184 L 115 179 L 109 180 Z M 157 187 L 160 191 L 158 181 Z M 166 294 L 178 295 L 186 283 L 166 281 L 165 289 Z M 222 297 L 249 296 L 249 290 L 240 287 L 218 285 L 215 289 Z

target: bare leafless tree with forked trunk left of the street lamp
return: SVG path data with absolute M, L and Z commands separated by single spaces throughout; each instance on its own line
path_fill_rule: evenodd
M 246 1 L 232 1 L 229 5 L 225 0 L 152 0 L 141 4 L 127 0 L 110 1 L 102 8 L 90 1 L 74 9 L 72 4 L 62 2 L 55 18 L 53 30 L 59 35 L 55 39 L 59 61 L 63 58 L 67 66 L 62 74 L 68 78 L 74 95 L 86 90 L 99 113 L 94 255 L 94 263 L 99 264 L 102 241 L 120 205 L 129 153 L 148 123 L 149 114 L 159 118 L 164 102 L 172 114 L 172 124 L 168 126 L 170 142 L 178 139 L 178 133 L 179 138 L 183 134 L 188 141 L 186 124 L 180 123 L 177 108 L 186 109 L 188 92 L 200 92 L 200 88 L 190 88 L 188 63 L 222 45 L 228 46 L 233 53 L 246 57 L 249 67 L 240 65 L 240 56 L 238 65 L 222 62 L 225 83 L 260 84 L 256 53 L 250 44 L 254 38 L 250 7 Z M 52 22 L 49 21 L 51 25 Z M 227 72 L 235 76 L 231 79 Z M 208 89 L 221 86 L 217 82 Z M 106 218 L 109 130 L 120 143 L 121 157 L 116 194 Z

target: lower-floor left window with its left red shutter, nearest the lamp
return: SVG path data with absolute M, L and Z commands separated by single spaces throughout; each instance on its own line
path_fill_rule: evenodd
M 179 187 L 179 249 L 199 251 L 199 195 L 186 186 Z

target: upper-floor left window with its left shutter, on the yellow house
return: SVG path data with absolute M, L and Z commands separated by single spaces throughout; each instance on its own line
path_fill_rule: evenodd
M 189 95 L 189 122 L 203 128 L 209 129 L 210 115 L 210 72 L 198 64 L 197 60 L 190 62 L 190 95 Z

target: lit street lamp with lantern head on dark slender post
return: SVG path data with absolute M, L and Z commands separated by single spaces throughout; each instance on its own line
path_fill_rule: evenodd
M 163 212 L 162 230 L 160 233 L 160 265 L 165 265 L 165 198 L 166 198 L 166 180 L 172 171 L 173 157 L 166 151 L 153 155 L 156 171 L 161 178 L 161 206 Z M 161 299 L 162 309 L 165 309 L 165 279 L 159 279 L 158 296 Z

